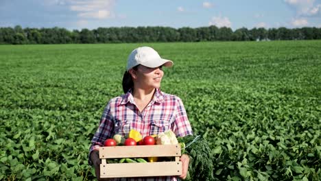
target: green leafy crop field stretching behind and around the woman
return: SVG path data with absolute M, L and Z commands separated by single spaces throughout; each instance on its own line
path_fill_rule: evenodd
M 321 40 L 0 46 L 0 180 L 93 180 L 88 147 L 139 46 L 213 149 L 215 180 L 321 180 Z

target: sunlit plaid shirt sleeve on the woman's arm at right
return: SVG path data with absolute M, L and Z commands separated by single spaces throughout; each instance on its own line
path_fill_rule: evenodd
M 189 123 L 189 119 L 187 117 L 187 112 L 185 110 L 184 105 L 182 104 L 182 100 L 177 97 L 176 100 L 176 108 L 175 108 L 175 121 L 173 127 L 173 131 L 176 136 L 187 136 L 193 134 L 191 129 L 191 123 Z

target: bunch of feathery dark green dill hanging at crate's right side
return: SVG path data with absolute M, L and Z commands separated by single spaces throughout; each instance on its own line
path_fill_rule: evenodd
M 185 143 L 185 154 L 189 155 L 190 178 L 186 180 L 214 180 L 213 155 L 209 143 L 200 136 L 189 135 L 177 139 L 179 143 Z

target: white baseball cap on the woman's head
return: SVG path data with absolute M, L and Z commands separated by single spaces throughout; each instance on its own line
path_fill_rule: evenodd
M 161 65 L 172 67 L 174 63 L 171 60 L 160 58 L 157 51 L 151 47 L 139 47 L 134 49 L 128 56 L 126 70 L 128 71 L 139 64 L 145 67 L 156 68 Z

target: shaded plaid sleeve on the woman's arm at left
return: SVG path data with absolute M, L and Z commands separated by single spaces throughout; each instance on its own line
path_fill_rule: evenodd
M 110 114 L 110 102 L 108 102 L 104 112 L 102 114 L 102 118 L 100 119 L 99 127 L 95 132 L 93 139 L 91 140 L 91 147 L 89 148 L 89 160 L 88 163 L 92 165 L 90 156 L 93 150 L 99 150 L 99 147 L 104 145 L 104 141 L 107 138 L 112 137 L 112 132 L 115 128 L 112 115 Z

